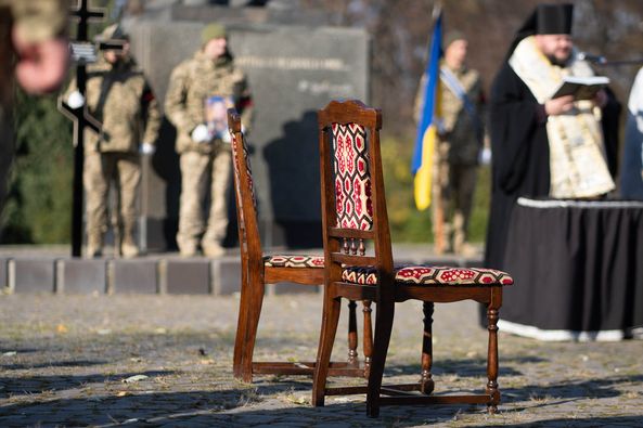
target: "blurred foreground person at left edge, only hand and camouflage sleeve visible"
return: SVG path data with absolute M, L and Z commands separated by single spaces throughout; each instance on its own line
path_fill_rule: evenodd
M 0 0 L 0 211 L 14 154 L 14 77 L 29 93 L 57 89 L 67 70 L 67 5 L 64 0 Z

